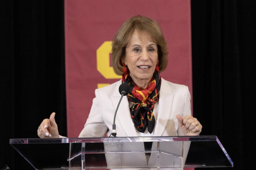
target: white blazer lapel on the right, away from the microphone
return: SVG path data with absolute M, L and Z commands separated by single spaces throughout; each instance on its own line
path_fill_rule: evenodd
M 158 101 L 158 115 L 155 125 L 154 136 L 161 136 L 163 131 L 165 130 L 165 126 L 168 122 L 172 110 L 172 101 L 172 91 L 166 80 L 162 78 Z

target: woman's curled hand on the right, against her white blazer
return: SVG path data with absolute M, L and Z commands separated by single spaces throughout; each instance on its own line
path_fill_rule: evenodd
M 202 131 L 202 125 L 193 116 L 184 116 L 183 118 L 180 115 L 176 115 L 179 127 L 183 132 L 184 136 L 197 136 Z

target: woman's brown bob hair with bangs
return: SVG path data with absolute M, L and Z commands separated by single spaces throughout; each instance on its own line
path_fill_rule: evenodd
M 155 41 L 158 48 L 159 72 L 163 72 L 168 63 L 168 51 L 162 30 L 154 20 L 137 15 L 123 23 L 112 41 L 112 66 L 115 73 L 123 75 L 122 59 L 135 30 L 140 33 L 147 33 Z

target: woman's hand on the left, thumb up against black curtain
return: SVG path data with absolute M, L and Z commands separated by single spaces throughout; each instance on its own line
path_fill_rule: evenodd
M 40 138 L 59 138 L 58 126 L 55 122 L 55 112 L 49 119 L 44 119 L 37 129 L 37 135 Z

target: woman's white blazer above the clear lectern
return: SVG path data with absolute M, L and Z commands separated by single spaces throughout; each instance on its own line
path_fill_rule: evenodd
M 95 90 L 96 97 L 93 99 L 89 117 L 79 137 L 104 137 L 106 132 L 108 136 L 111 134 L 115 110 L 121 97 L 119 94 L 121 83 L 122 80 L 119 80 Z M 176 114 L 182 117 L 191 115 L 188 87 L 162 78 L 154 136 L 183 135 L 178 128 Z M 127 97 L 123 97 L 117 111 L 116 130 L 117 137 L 137 137 Z

